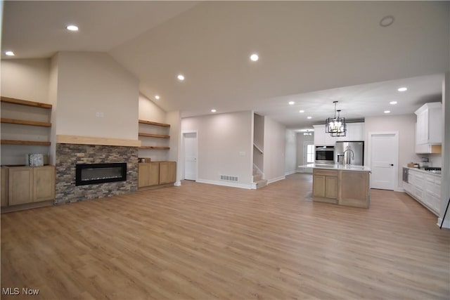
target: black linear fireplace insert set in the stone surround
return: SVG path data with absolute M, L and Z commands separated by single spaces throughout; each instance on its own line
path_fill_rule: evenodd
M 127 181 L 127 163 L 77 164 L 75 185 Z

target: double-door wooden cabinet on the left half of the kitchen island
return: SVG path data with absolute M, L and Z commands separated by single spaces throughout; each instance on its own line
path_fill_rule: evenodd
M 313 197 L 326 198 L 324 202 L 338 203 L 338 172 L 313 170 Z

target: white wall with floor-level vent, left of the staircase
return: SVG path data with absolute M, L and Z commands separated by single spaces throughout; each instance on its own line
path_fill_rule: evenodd
M 181 131 L 198 131 L 198 181 L 251 188 L 252 112 L 181 119 Z M 238 176 L 238 183 L 220 181 Z

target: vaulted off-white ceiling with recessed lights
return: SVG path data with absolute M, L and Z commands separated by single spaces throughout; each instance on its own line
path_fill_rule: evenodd
M 448 1 L 5 1 L 2 59 L 107 52 L 166 111 L 255 110 L 300 128 L 333 100 L 349 119 L 441 100 L 449 20 Z

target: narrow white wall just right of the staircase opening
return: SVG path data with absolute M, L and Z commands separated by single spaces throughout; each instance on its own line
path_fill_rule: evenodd
M 264 179 L 268 183 L 285 178 L 284 125 L 264 117 Z

